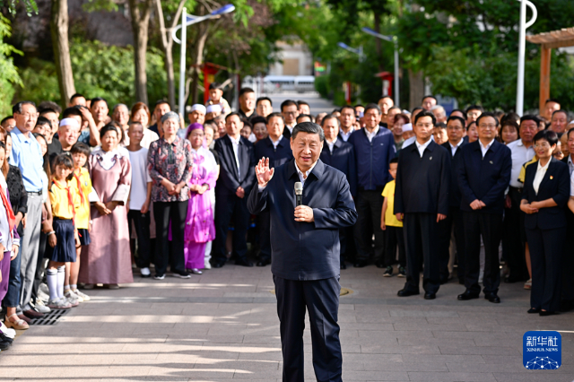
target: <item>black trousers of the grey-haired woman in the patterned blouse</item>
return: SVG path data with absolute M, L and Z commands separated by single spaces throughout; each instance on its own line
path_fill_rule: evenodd
M 171 272 L 186 272 L 183 239 L 186 229 L 187 204 L 187 201 L 153 202 L 156 239 L 155 273 L 157 275 L 165 274 L 169 263 L 171 264 Z M 168 239 L 170 221 L 171 243 Z

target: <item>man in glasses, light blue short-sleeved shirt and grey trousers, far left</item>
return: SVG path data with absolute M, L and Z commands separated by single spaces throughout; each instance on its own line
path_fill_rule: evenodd
M 13 118 L 16 126 L 12 131 L 12 154 L 10 164 L 17 166 L 22 171 L 24 188 L 28 194 L 28 212 L 26 213 L 26 225 L 24 235 L 20 242 L 20 276 L 22 288 L 20 304 L 24 315 L 27 317 L 41 317 L 41 313 L 32 309 L 30 298 L 38 263 L 39 230 L 42 221 L 42 153 L 39 143 L 32 129 L 36 126 L 38 110 L 36 104 L 29 100 L 18 102 L 14 105 Z

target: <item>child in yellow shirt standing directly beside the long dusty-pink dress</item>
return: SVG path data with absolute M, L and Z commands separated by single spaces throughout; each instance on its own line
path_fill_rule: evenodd
M 65 297 L 78 302 L 89 301 L 90 296 L 78 290 L 78 274 L 80 273 L 80 255 L 82 247 L 91 243 L 90 239 L 90 201 L 91 193 L 90 172 L 84 166 L 90 156 L 90 147 L 84 143 L 75 143 L 70 150 L 74 161 L 74 190 L 80 196 L 80 205 L 75 210 L 75 228 L 78 230 L 80 247 L 76 247 L 76 261 L 69 266 L 66 264 L 66 278 L 64 285 Z M 69 269 L 69 272 L 67 271 Z

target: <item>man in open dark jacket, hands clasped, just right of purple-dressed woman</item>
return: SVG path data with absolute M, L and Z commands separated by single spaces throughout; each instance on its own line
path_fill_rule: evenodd
M 227 135 L 215 141 L 215 151 L 220 159 L 220 176 L 215 187 L 215 240 L 211 263 L 221 268 L 227 260 L 225 242 L 230 221 L 233 221 L 233 255 L 235 264 L 253 266 L 248 261 L 248 245 L 245 235 L 248 230 L 248 201 L 245 196 L 255 183 L 255 152 L 253 143 L 239 132 L 243 122 L 239 113 L 225 117 Z

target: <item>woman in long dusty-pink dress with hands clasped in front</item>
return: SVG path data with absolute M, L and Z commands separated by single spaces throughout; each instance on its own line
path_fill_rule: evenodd
M 113 123 L 103 126 L 101 149 L 92 152 L 88 160 L 91 244 L 83 247 L 79 276 L 87 289 L 97 283 L 117 289 L 117 284 L 134 282 L 126 212 L 132 167 L 129 158 L 117 151 L 119 137 Z

